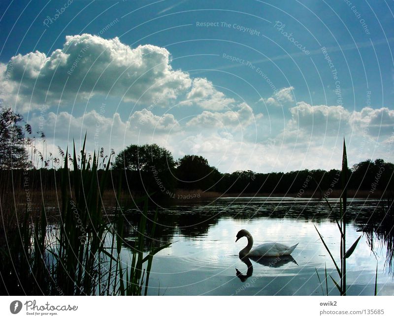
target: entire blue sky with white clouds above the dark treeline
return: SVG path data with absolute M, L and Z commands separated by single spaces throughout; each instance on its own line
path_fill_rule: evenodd
M 393 162 L 394 4 L 0 2 L 0 101 L 57 154 L 157 143 L 221 172 Z

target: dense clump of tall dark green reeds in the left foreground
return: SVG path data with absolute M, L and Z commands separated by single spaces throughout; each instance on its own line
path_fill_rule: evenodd
M 48 224 L 44 209 L 36 217 L 26 210 L 17 228 L 5 231 L 0 246 L 0 276 L 3 294 L 28 295 L 146 295 L 153 256 L 170 243 L 147 254 L 144 244 L 154 237 L 157 213 L 147 220 L 147 198 L 136 226 L 135 245 L 124 240 L 124 215 L 119 199 L 111 219 L 103 215 L 102 196 L 109 175 L 108 157 L 104 173 L 99 154 L 87 157 L 86 136 L 80 155 L 75 143 L 68 148 L 61 170 L 59 223 Z M 101 157 L 102 158 L 102 157 Z M 77 162 L 77 159 L 79 161 Z M 71 167 L 71 168 L 69 168 Z M 71 170 L 70 170 L 71 169 Z M 72 183 L 71 183 L 72 181 Z M 120 187 L 117 197 L 120 195 Z M 1 203 L 0 203 L 1 205 Z M 44 208 L 44 207 L 43 207 Z M 15 213 L 15 216 L 18 215 Z M 147 224 L 153 225 L 147 233 Z M 15 232 L 18 231 L 18 232 Z M 127 247 L 130 260 L 121 258 Z M 4 249 L 7 248 L 7 249 Z M 124 255 L 122 251 L 122 255 Z

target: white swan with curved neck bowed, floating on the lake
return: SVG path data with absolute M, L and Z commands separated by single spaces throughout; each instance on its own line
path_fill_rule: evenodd
M 290 255 L 296 249 L 297 245 L 293 247 L 289 247 L 286 245 L 279 244 L 277 242 L 269 242 L 263 245 L 256 247 L 251 250 L 253 247 L 253 238 L 248 230 L 242 229 L 237 233 L 237 242 L 242 237 L 246 237 L 248 239 L 248 245 L 239 251 L 240 257 L 251 256 L 251 257 L 278 257 L 281 255 Z

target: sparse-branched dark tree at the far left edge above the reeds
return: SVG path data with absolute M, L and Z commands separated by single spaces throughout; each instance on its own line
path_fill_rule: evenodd
M 29 167 L 29 139 L 25 137 L 25 129 L 31 133 L 30 125 L 20 125 L 23 117 L 14 113 L 11 108 L 0 107 L 0 168 L 26 169 Z

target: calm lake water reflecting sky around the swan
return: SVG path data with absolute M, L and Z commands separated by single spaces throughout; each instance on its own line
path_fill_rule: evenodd
M 322 295 L 316 269 L 324 290 L 325 263 L 328 274 L 334 279 L 337 274 L 314 225 L 338 263 L 339 230 L 334 217 L 329 216 L 326 204 L 318 199 L 296 200 L 222 198 L 159 208 L 160 226 L 155 241 L 158 245 L 174 243 L 153 259 L 149 294 Z M 335 205 L 336 200 L 331 201 Z M 347 259 L 349 295 L 373 295 L 377 262 L 379 294 L 394 294 L 392 254 L 387 253 L 390 244 L 379 240 L 379 234 L 362 229 L 375 212 L 373 201 L 349 201 L 347 248 L 363 235 L 357 249 Z M 128 213 L 131 225 L 137 215 L 136 212 Z M 264 242 L 299 244 L 290 257 L 251 261 L 248 268 L 238 257 L 238 251 L 247 244 L 246 238 L 235 243 L 235 235 L 240 229 L 251 232 L 254 246 Z M 132 227 L 128 231 L 131 240 Z M 123 254 L 127 259 L 128 250 L 124 249 Z M 338 294 L 331 279 L 328 279 L 328 291 L 330 295 Z

